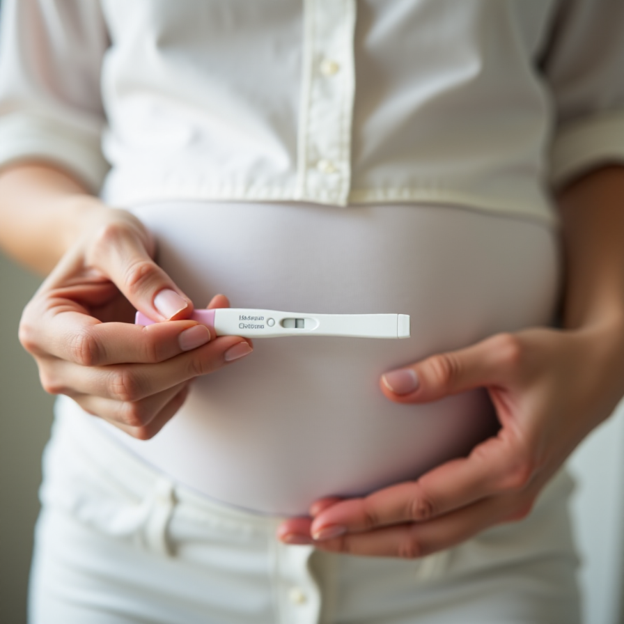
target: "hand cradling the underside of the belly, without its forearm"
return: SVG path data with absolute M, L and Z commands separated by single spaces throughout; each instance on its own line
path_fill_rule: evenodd
M 487 389 L 501 428 L 467 458 L 356 499 L 315 501 L 279 527 L 286 543 L 419 557 L 521 520 L 579 442 L 624 392 L 624 329 L 526 329 L 429 357 L 381 379 L 396 403 Z

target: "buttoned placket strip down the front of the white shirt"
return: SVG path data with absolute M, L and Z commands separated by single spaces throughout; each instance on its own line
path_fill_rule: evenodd
M 305 0 L 297 199 L 346 205 L 351 185 L 355 0 Z

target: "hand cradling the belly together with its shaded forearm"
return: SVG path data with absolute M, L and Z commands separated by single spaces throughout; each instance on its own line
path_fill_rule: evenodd
M 624 168 L 592 171 L 559 195 L 566 279 L 563 327 L 498 334 L 407 367 L 417 389 L 380 391 L 427 403 L 483 387 L 501 429 L 467 458 L 367 497 L 315 501 L 283 522 L 286 543 L 414 558 L 490 526 L 522 520 L 540 491 L 624 394 Z

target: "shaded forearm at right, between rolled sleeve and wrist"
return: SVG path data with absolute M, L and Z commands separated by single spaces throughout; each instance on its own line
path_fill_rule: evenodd
M 565 256 L 563 326 L 586 345 L 606 403 L 624 395 L 624 167 L 584 176 L 559 198 Z M 604 411 L 603 411 L 604 413 Z

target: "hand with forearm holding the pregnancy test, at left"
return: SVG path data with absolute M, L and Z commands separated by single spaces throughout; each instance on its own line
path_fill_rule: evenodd
M 89 195 L 70 173 L 43 163 L 4 171 L 0 220 L 10 255 L 52 269 L 20 322 L 47 392 L 149 439 L 178 412 L 194 377 L 251 352 L 240 336 L 216 338 L 185 320 L 193 304 L 154 262 L 155 242 L 140 221 Z M 169 305 L 159 309 L 163 292 Z M 223 295 L 210 302 L 228 305 Z M 134 309 L 169 322 L 134 325 Z

